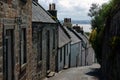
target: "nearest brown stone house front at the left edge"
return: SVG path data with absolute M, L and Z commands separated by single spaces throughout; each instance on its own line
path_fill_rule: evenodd
M 0 80 L 32 80 L 31 0 L 0 0 Z

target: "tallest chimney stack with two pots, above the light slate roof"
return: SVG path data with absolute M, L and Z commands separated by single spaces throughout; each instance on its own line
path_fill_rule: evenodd
M 52 15 L 51 17 L 56 20 L 57 19 L 57 10 L 55 7 L 55 3 L 49 4 L 48 12 Z

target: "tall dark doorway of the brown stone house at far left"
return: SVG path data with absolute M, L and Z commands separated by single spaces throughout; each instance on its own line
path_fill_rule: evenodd
M 14 32 L 12 29 L 6 30 L 4 42 L 4 72 L 5 80 L 14 80 Z

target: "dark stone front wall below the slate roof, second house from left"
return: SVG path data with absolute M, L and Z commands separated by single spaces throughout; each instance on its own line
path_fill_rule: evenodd
M 56 68 L 56 55 L 57 55 L 57 45 L 58 45 L 58 31 L 57 31 L 57 25 L 56 24 L 49 24 L 49 23 L 35 23 L 33 22 L 32 24 L 33 27 L 33 52 L 35 54 L 35 63 L 37 65 L 40 65 L 40 70 L 38 71 L 36 67 L 36 73 L 35 75 L 37 76 L 36 80 L 45 78 L 47 76 L 47 51 L 49 51 L 49 64 L 50 68 L 49 70 L 52 72 L 55 72 Z M 48 41 L 48 32 L 49 32 L 49 43 Z M 38 39 L 38 35 L 41 35 L 41 38 Z M 55 38 L 53 37 L 55 35 Z M 39 40 L 39 41 L 38 41 Z M 41 41 L 41 43 L 39 43 Z M 55 44 L 53 44 L 55 43 Z M 49 50 L 48 48 L 49 44 Z M 42 48 L 42 51 L 38 51 L 38 45 L 40 48 Z M 54 45 L 54 48 L 53 48 Z M 42 59 L 39 61 L 40 63 L 37 62 L 37 57 L 39 54 L 42 54 Z M 36 65 L 36 66 L 37 66 Z

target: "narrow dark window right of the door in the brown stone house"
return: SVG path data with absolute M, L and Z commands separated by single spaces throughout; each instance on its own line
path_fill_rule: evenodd
M 21 51 L 20 51 L 20 64 L 21 67 L 23 66 L 23 64 L 25 64 L 27 62 L 27 54 L 26 54 L 26 29 L 22 28 L 21 30 Z

